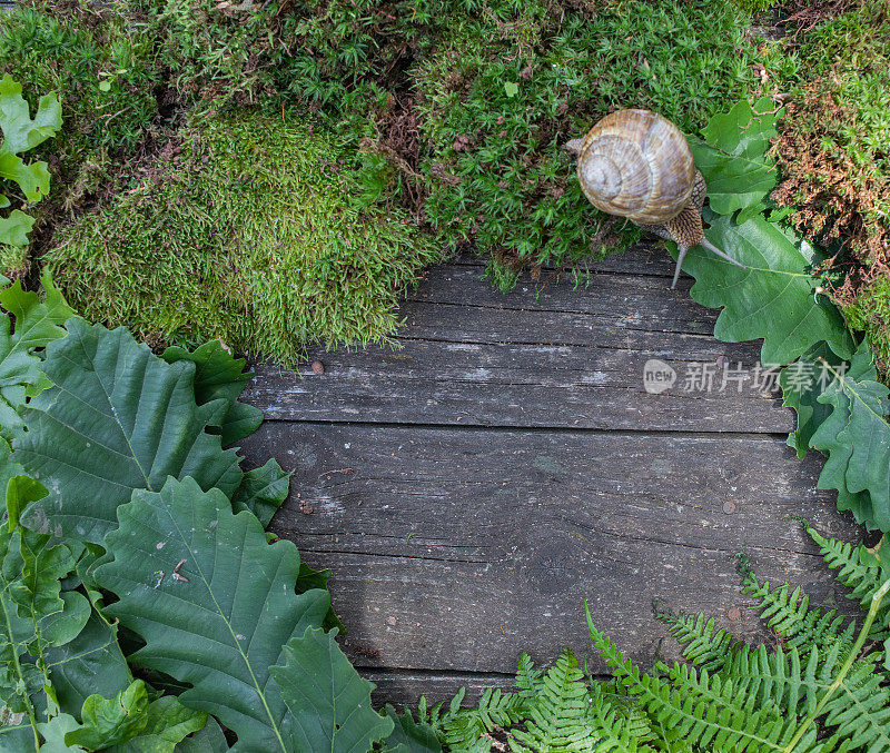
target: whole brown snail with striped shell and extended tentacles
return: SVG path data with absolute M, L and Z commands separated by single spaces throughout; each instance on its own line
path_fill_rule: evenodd
M 565 149 L 577 155 L 581 189 L 594 207 L 676 242 L 672 288 L 693 246 L 744 269 L 704 237 L 701 211 L 708 186 L 685 137 L 670 120 L 649 110 L 619 110 Z

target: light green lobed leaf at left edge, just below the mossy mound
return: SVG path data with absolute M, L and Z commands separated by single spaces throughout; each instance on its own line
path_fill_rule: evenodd
M 19 415 L 27 396 L 46 386 L 36 350 L 67 335 L 62 328 L 71 307 L 48 274 L 41 277 L 44 299 L 23 290 L 20 281 L 0 290 L 0 306 L 16 319 L 0 316 L 0 436 L 11 439 L 24 430 Z

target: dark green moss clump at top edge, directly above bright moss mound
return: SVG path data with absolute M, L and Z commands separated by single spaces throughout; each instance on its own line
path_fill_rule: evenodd
M 436 33 L 452 0 L 130 0 L 157 39 L 159 65 L 185 101 L 204 108 L 301 106 L 373 135 L 405 61 Z

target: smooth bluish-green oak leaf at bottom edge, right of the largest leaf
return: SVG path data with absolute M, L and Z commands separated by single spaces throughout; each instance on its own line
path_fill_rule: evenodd
M 290 710 L 298 751 L 365 753 L 393 731 L 393 721 L 370 705 L 374 683 L 358 676 L 336 634 L 307 628 L 285 646 L 284 665 L 270 670 Z

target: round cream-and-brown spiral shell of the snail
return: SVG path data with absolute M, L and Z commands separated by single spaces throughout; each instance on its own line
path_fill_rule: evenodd
M 597 209 L 637 225 L 660 225 L 689 202 L 695 165 L 670 120 L 649 110 L 619 110 L 587 131 L 577 177 Z

